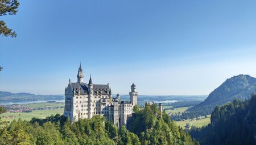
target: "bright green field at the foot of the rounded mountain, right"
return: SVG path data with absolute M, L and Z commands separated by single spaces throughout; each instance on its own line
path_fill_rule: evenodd
M 195 126 L 195 127 L 206 126 L 210 123 L 210 115 L 207 115 L 207 118 L 200 117 L 199 120 L 196 120 L 196 118 L 193 118 L 192 121 L 191 121 L 191 119 L 187 119 L 185 121 L 176 121 L 176 124 L 179 125 L 180 127 L 183 127 L 183 129 L 184 129 L 184 127 L 187 123 L 189 123 L 189 125 L 191 126 L 192 122 L 194 122 L 193 126 Z

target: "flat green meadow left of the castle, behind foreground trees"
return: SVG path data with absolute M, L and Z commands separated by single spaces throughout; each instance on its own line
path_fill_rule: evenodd
M 27 120 L 30 121 L 31 118 L 36 117 L 36 118 L 46 118 L 48 116 L 51 116 L 52 114 L 63 114 L 64 108 L 61 109 L 54 109 L 54 110 L 33 110 L 30 113 L 3 113 L 1 114 L 1 119 L 3 121 L 13 121 L 16 119 L 18 121 L 19 118 L 22 120 Z M 15 116 L 14 118 L 3 118 L 3 116 Z

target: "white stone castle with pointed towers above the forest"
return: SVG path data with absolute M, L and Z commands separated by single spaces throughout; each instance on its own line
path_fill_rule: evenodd
M 137 105 L 137 87 L 131 85 L 130 101 L 121 101 L 119 94 L 112 98 L 109 84 L 93 84 L 90 76 L 89 83 L 82 82 L 84 75 L 80 64 L 77 73 L 77 82 L 69 80 L 65 88 L 65 109 L 64 116 L 69 117 L 72 122 L 78 119 L 92 118 L 94 115 L 101 115 L 113 121 L 114 125 L 126 125 L 127 118 L 133 113 L 133 107 Z

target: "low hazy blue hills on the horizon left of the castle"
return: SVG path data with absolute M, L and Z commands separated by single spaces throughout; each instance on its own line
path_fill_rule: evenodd
M 0 104 L 7 102 L 28 102 L 28 101 L 50 101 L 50 100 L 64 100 L 61 95 L 35 95 L 30 93 L 10 93 L 0 91 Z

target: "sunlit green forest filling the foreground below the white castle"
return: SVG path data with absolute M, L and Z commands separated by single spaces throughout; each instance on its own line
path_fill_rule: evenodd
M 2 109 L 0 109 L 2 110 Z M 3 113 L 5 110 L 2 110 Z M 0 144 L 197 144 L 188 132 L 175 125 L 166 113 L 160 118 L 156 105 L 134 108 L 129 127 L 118 129 L 103 117 L 71 123 L 63 115 L 30 122 L 2 122 Z

